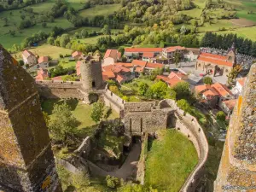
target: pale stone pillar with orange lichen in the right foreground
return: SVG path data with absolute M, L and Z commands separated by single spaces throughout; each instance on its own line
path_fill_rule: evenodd
M 230 119 L 215 192 L 256 191 L 256 64 Z

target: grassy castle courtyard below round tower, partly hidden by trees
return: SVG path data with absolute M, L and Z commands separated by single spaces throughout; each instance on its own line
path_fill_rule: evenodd
M 42 108 L 43 111 L 49 114 L 49 117 L 52 118 L 54 114 L 52 113 L 54 104 L 61 103 L 61 100 L 53 100 L 49 99 L 43 102 Z M 95 122 L 90 118 L 90 113 L 92 110 L 92 105 L 84 104 L 84 102 L 80 102 L 77 100 L 71 100 L 67 102 L 69 106 L 72 108 L 73 116 L 79 120 L 79 130 L 83 135 L 90 135 L 94 130 L 92 129 L 92 125 L 95 125 Z M 119 118 L 119 114 L 112 110 L 108 119 L 116 119 Z

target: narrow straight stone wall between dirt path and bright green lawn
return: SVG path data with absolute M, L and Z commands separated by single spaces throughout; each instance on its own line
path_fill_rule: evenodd
M 141 184 L 144 184 L 144 179 L 145 179 L 145 161 L 147 159 L 147 154 L 148 154 L 148 133 L 145 133 L 142 136 L 142 150 L 141 150 L 141 155 L 140 155 L 140 160 L 138 161 L 137 164 L 137 181 L 140 182 Z

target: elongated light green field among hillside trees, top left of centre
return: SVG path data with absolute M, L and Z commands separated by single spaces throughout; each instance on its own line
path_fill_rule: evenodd
M 79 12 L 79 15 L 83 17 L 94 17 L 96 15 L 110 15 L 114 11 L 118 11 L 121 8 L 120 4 L 106 4 L 106 5 L 96 5 L 90 9 L 84 9 Z

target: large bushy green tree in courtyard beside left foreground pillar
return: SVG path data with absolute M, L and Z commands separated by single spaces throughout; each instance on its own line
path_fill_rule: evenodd
M 55 104 L 53 113 L 55 117 L 49 122 L 51 138 L 56 142 L 66 143 L 72 141 L 79 121 L 73 117 L 67 102 Z

